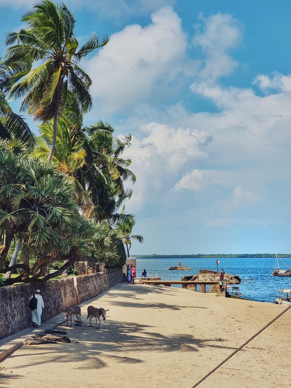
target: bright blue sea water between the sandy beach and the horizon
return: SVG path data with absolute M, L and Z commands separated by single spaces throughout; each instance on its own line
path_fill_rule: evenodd
M 145 270 L 150 276 L 161 277 L 162 280 L 181 280 L 181 276 L 197 274 L 199 269 L 217 270 L 217 259 L 213 258 L 183 258 L 181 265 L 192 268 L 191 271 L 168 270 L 170 267 L 178 265 L 179 259 L 137 259 L 137 276 L 142 275 Z M 291 258 L 283 259 L 291 267 Z M 288 269 L 279 260 L 282 269 Z M 239 292 L 243 296 L 258 300 L 273 301 L 278 297 L 278 290 L 282 288 L 291 288 L 291 277 L 272 276 L 271 270 L 277 268 L 275 258 L 221 258 L 218 270 L 225 270 L 225 273 L 238 275 L 242 280 L 239 286 Z M 182 286 L 178 286 L 182 287 Z M 208 291 L 209 288 L 206 288 Z

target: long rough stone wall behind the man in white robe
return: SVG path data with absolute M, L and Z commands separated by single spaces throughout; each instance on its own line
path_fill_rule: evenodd
M 94 298 L 115 284 L 124 281 L 122 269 L 105 269 L 91 275 L 76 276 L 80 303 Z M 45 310 L 42 322 L 76 305 L 73 277 L 50 280 L 43 284 L 19 284 L 0 287 L 0 340 L 30 327 L 30 296 L 39 288 Z

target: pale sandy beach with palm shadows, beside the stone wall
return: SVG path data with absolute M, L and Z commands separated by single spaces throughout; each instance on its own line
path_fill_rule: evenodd
M 88 305 L 109 308 L 99 330 L 88 326 Z M 119 284 L 81 305 L 71 343 L 22 346 L 3 360 L 0 386 L 190 388 L 283 309 Z M 290 387 L 290 322 L 291 309 L 199 387 Z

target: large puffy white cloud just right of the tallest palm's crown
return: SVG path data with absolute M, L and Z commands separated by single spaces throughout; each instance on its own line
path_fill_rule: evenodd
M 171 7 L 151 17 L 149 26 L 134 24 L 111 35 L 109 43 L 85 63 L 93 81 L 92 95 L 104 112 L 137 104 L 159 79 L 170 82 L 181 70 L 187 44 L 181 19 Z

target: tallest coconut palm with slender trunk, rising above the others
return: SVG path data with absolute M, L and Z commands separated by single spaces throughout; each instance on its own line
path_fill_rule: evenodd
M 64 4 L 56 5 L 50 0 L 37 3 L 24 13 L 22 22 L 27 29 L 9 32 L 5 39 L 5 64 L 7 71 L 0 86 L 10 91 L 10 98 L 24 97 L 20 110 L 27 110 L 34 120 L 43 123 L 54 120 L 52 144 L 47 160 L 52 159 L 57 138 L 57 121 L 66 106 L 68 90 L 81 104 L 83 111 L 92 106 L 89 93 L 91 79 L 78 63 L 93 50 L 106 45 L 95 34 L 78 49 L 74 36 L 74 15 Z M 17 43 L 17 44 L 14 44 Z M 40 66 L 32 68 L 34 63 Z M 24 69 L 19 71 L 19 68 Z

